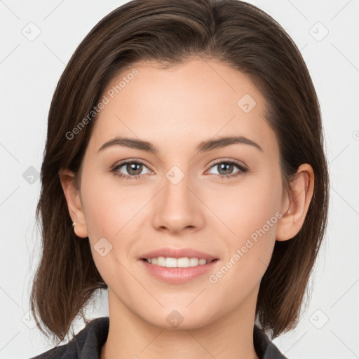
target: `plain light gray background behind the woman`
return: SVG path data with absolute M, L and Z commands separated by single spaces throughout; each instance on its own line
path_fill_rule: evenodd
M 39 260 L 36 173 L 48 108 L 76 46 L 125 2 L 0 1 L 0 358 L 30 358 L 53 347 L 32 329 L 27 313 Z M 309 306 L 297 329 L 274 343 L 292 359 L 359 358 L 359 1 L 250 2 L 273 16 L 302 51 L 320 100 L 332 186 Z M 41 34 L 33 39 L 36 31 Z M 106 292 L 87 313 L 108 315 Z M 75 332 L 83 325 L 77 322 Z

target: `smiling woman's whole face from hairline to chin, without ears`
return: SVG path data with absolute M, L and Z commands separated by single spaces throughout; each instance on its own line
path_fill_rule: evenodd
M 283 210 L 278 142 L 241 72 L 201 60 L 154 65 L 135 64 L 104 92 L 83 159 L 84 225 L 110 311 L 201 327 L 255 306 Z M 120 136 L 151 145 L 111 142 Z M 143 260 L 154 250 L 216 260 L 163 267 Z

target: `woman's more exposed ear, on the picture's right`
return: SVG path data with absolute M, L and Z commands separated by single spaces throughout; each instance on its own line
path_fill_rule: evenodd
M 282 217 L 276 228 L 276 240 L 287 241 L 297 235 L 303 226 L 314 190 L 314 171 L 311 165 L 299 166 L 283 198 Z

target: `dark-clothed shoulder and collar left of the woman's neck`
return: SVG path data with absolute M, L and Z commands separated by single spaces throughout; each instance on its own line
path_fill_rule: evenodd
M 99 359 L 108 331 L 109 317 L 95 318 L 67 344 L 55 346 L 30 359 Z

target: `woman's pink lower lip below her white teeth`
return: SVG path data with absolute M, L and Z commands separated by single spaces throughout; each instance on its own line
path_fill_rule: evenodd
M 156 264 L 149 264 L 148 262 L 140 259 L 142 265 L 152 276 L 159 278 L 167 283 L 180 284 L 189 282 L 198 276 L 203 276 L 213 266 L 217 264 L 218 259 L 208 263 L 201 264 L 198 266 L 189 266 L 188 268 L 168 268 L 166 266 L 157 266 Z

